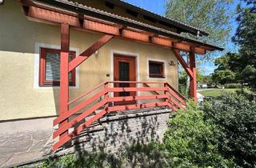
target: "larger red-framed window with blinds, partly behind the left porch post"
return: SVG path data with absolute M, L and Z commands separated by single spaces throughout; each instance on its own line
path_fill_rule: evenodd
M 40 86 L 59 86 L 60 82 L 60 50 L 40 49 L 40 70 L 39 85 Z M 75 52 L 70 51 L 70 61 L 75 58 Z M 75 70 L 69 74 L 70 86 L 75 86 Z

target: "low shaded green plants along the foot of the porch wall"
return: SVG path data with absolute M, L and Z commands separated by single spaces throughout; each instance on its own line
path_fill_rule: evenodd
M 174 167 L 172 159 L 166 158 L 157 142 L 149 145 L 134 144 L 126 149 L 111 154 L 105 152 L 66 154 L 59 158 L 48 158 L 38 164 L 38 168 L 85 167 L 85 168 L 118 168 L 118 167 Z

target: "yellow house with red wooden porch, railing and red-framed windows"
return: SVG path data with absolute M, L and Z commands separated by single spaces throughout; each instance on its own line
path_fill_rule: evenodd
M 126 133 L 118 134 L 138 135 L 133 131 L 147 123 L 161 137 L 170 112 L 186 106 L 178 63 L 196 101 L 195 54 L 222 50 L 182 35 L 206 36 L 204 30 L 119 0 L 8 0 L 0 15 L 0 166 L 57 154 L 84 131 L 98 131 L 98 144 L 113 140 L 114 130 L 104 140 L 99 133 L 110 121 L 121 123 L 110 115 L 117 111 L 133 110 L 115 129 Z M 190 54 L 190 65 L 180 51 Z M 106 125 L 95 130 L 97 122 Z M 143 132 L 140 138 L 148 138 Z

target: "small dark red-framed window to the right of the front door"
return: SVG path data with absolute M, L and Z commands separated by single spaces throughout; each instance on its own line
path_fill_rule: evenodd
M 150 78 L 165 78 L 164 62 L 149 61 Z

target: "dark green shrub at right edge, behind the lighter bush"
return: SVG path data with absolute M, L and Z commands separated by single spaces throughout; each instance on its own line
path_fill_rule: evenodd
M 248 94 L 248 93 L 247 93 Z M 216 137 L 219 151 L 238 166 L 256 166 L 256 102 L 248 95 L 225 94 L 220 102 L 202 106 L 206 120 L 211 120 L 222 136 Z

